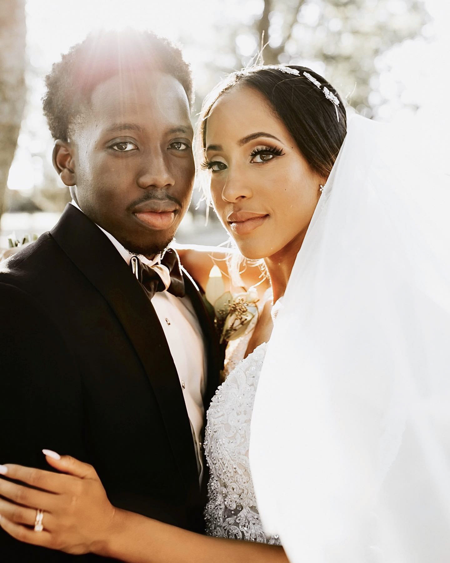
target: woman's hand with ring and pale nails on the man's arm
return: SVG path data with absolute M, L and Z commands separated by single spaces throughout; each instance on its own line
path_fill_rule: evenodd
M 3 466 L 5 477 L 34 488 L 0 479 L 0 526 L 13 538 L 35 546 L 75 555 L 98 553 L 109 537 L 117 510 L 91 465 L 68 455 L 57 456 L 47 455 L 47 462 L 67 475 Z M 33 529 L 38 509 L 43 511 L 42 531 Z

